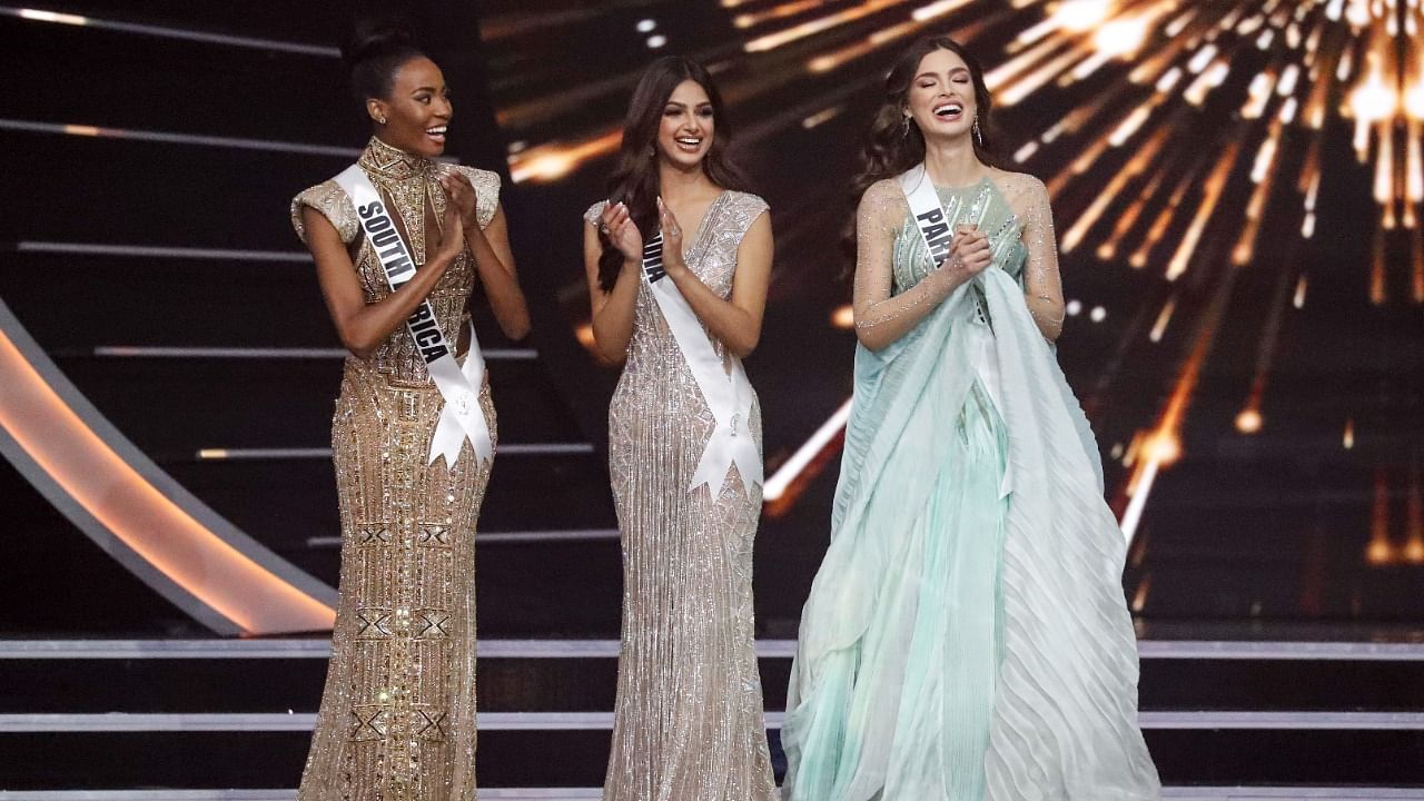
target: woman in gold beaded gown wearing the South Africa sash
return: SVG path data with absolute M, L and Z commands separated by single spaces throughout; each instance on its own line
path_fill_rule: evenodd
M 340 600 L 298 795 L 473 801 L 474 529 L 496 425 L 466 306 L 481 285 L 515 339 L 528 312 L 498 175 L 434 161 L 440 68 L 399 30 L 359 36 L 347 60 L 375 135 L 292 201 L 350 351 L 332 425 Z

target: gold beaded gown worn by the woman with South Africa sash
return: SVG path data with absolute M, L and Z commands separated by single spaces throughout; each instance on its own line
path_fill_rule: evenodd
M 424 264 L 426 227 L 437 225 L 446 210 L 434 164 L 373 138 L 360 165 L 399 212 L 412 254 Z M 488 225 L 498 175 L 461 170 L 476 187 L 480 225 Z M 305 241 L 302 207 L 322 212 L 353 248 L 366 302 L 389 295 L 346 192 L 326 181 L 292 201 L 292 222 Z M 429 295 L 451 342 L 468 325 L 464 308 L 474 281 L 466 249 Z M 490 467 L 468 442 L 453 470 L 443 456 L 427 465 L 441 405 L 404 325 L 369 358 L 346 358 L 332 420 L 340 600 L 300 801 L 476 798 L 474 527 Z M 488 383 L 480 406 L 493 438 Z

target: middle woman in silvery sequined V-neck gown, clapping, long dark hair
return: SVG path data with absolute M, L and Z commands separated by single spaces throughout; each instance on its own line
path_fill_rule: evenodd
M 609 801 L 776 792 L 752 626 L 760 408 L 740 363 L 760 336 L 772 227 L 739 191 L 729 134 L 706 70 L 655 61 L 611 202 L 585 215 L 597 351 L 624 365 L 608 409 L 624 549 Z

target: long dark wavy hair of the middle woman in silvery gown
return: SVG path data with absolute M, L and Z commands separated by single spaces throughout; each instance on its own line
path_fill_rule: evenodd
M 703 172 L 723 190 L 746 188 L 742 172 L 728 158 L 732 130 L 712 76 L 702 64 L 682 56 L 658 58 L 642 71 L 638 88 L 632 91 L 628 115 L 624 118 L 618 168 L 608 178 L 608 201 L 628 204 L 628 215 L 645 242 L 658 232 L 658 127 L 672 90 L 682 81 L 696 81 L 712 101 L 712 144 L 702 158 Z M 604 247 L 598 257 L 598 285 L 609 292 L 618 282 L 624 257 L 602 232 L 598 234 L 598 241 Z

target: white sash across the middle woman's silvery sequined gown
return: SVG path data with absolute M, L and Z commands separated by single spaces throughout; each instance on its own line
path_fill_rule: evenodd
M 728 470 L 736 463 L 742 487 L 750 496 L 752 485 L 763 483 L 762 455 L 748 428 L 748 418 L 752 415 L 752 383 L 742 369 L 742 359 L 729 356 L 732 371 L 728 373 L 723 369 L 722 358 L 716 355 L 696 312 L 678 286 L 672 281 L 665 281 L 666 275 L 662 268 L 662 232 L 659 232 L 642 248 L 642 279 L 662 309 L 662 319 L 668 322 L 672 338 L 682 351 L 688 368 L 692 369 L 692 378 L 696 379 L 712 418 L 716 419 L 716 428 L 708 439 L 706 450 L 702 452 L 702 460 L 698 462 L 688 490 L 708 485 L 712 497 L 716 497 L 722 492 Z

